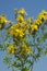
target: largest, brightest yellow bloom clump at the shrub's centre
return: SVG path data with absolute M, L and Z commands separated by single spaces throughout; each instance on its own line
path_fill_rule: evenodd
M 23 37 L 24 33 L 23 33 L 23 29 L 12 26 L 11 31 L 10 31 L 10 35 L 14 35 L 15 37 L 17 37 L 17 36 Z

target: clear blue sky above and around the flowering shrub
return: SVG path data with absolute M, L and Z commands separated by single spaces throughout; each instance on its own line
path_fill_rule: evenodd
M 47 0 L 0 0 L 0 15 L 4 13 L 9 20 L 14 20 L 14 9 L 24 8 L 28 16 L 36 17 L 42 10 L 47 10 Z M 2 62 L 3 54 L 0 51 L 0 71 L 8 70 Z M 34 64 L 33 71 L 47 71 L 47 56 L 42 57 L 39 61 Z

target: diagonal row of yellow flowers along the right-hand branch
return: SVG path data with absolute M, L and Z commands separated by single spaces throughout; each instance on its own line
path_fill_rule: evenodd
M 42 25 L 42 23 L 47 20 L 47 11 L 42 11 L 39 13 L 39 15 L 37 16 L 37 19 L 34 21 L 34 23 L 31 25 L 32 31 L 37 31 L 39 25 Z

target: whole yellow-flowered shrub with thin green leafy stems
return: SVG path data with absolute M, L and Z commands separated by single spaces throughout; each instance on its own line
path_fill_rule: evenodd
M 43 10 L 34 20 L 27 17 L 24 9 L 15 9 L 15 23 L 0 15 L 0 39 L 9 68 L 32 71 L 34 62 L 47 55 L 47 11 Z

